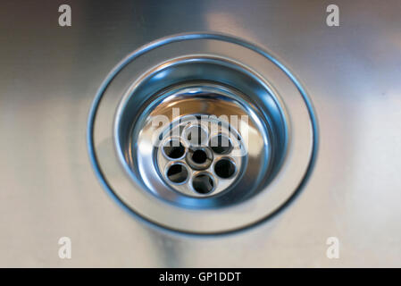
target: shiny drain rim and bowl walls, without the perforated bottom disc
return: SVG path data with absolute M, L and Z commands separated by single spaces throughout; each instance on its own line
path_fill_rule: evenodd
M 268 52 L 221 34 L 184 33 L 138 48 L 106 77 L 89 114 L 88 150 L 99 181 L 129 213 L 173 231 L 215 234 L 261 223 L 293 198 L 316 150 L 309 98 L 294 79 Z M 193 99 L 191 105 L 179 101 L 163 108 L 163 101 L 176 95 L 174 86 L 180 90 L 180 82 L 188 88 L 205 86 L 191 80 L 228 85 L 212 87 L 230 101 L 215 99 L 211 105 Z M 161 91 L 166 87 L 171 88 Z M 208 107 L 205 112 L 202 105 Z M 179 110 L 174 113 L 171 107 Z M 159 136 L 154 128 L 159 120 L 146 119 L 154 117 L 152 112 L 148 116 L 149 109 L 167 116 L 168 122 L 179 118 L 175 114 L 240 115 L 249 162 L 238 185 L 221 196 L 200 199 L 172 192 L 160 176 L 149 176 L 156 173 L 155 164 L 143 155 L 151 155 L 155 143 L 146 139 Z M 152 192 L 192 209 L 165 204 Z

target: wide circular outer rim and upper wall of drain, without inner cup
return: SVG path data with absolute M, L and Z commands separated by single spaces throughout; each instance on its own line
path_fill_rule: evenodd
M 205 59 L 214 67 L 216 64 L 224 66 L 218 69 L 220 77 L 214 73 L 210 75 L 213 78 L 199 78 L 202 69 L 206 68 L 202 65 Z M 132 108 L 129 98 L 135 94 L 136 104 L 144 105 L 149 95 L 166 87 L 163 80 L 179 80 L 180 69 L 174 71 L 177 66 L 196 61 L 200 64 L 198 72 L 201 74 L 193 71 L 190 78 L 181 81 L 218 79 L 221 84 L 232 87 L 234 83 L 235 87 L 239 80 L 244 86 L 235 88 L 244 92 L 251 107 L 255 107 L 248 111 L 256 116 L 266 116 L 273 135 L 273 164 L 260 174 L 263 178 L 259 191 L 233 205 L 188 209 L 180 206 L 180 201 L 178 205 L 169 204 L 157 198 L 147 190 L 146 181 L 133 175 L 130 169 L 133 162 L 128 150 L 132 150 L 133 143 L 121 142 L 124 137 L 120 131 L 132 131 L 128 121 L 121 121 L 123 109 Z M 131 64 L 133 62 L 136 64 Z M 232 71 L 229 80 L 224 81 L 229 70 Z M 254 86 L 246 86 L 245 78 L 253 80 Z M 132 83 L 128 89 L 127 83 Z M 275 130 L 280 124 L 281 128 Z M 304 89 L 272 55 L 230 36 L 185 34 L 143 46 L 114 68 L 99 89 L 89 115 L 88 147 L 96 174 L 105 189 L 131 214 L 173 231 L 212 234 L 238 231 L 261 222 L 293 197 L 312 168 L 317 138 L 315 129 L 312 107 Z M 280 142 L 284 146 L 280 146 Z M 130 148 L 122 149 L 126 144 Z M 151 150 L 143 147 L 141 152 Z M 267 174 L 268 178 L 264 178 Z

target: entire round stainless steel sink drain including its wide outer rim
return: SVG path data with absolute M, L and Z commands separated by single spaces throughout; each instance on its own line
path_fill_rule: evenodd
M 305 181 L 316 144 L 302 87 L 259 47 L 185 34 L 138 49 L 99 89 L 92 163 L 121 206 L 174 231 L 262 221 Z

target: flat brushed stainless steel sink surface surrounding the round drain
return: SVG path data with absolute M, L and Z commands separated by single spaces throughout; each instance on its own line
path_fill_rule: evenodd
M 64 28 L 60 4 L 0 4 L 0 266 L 401 265 L 399 1 L 337 1 L 339 27 L 326 25 L 326 1 L 70 1 Z M 271 51 L 319 123 L 318 156 L 297 198 L 229 235 L 133 218 L 88 158 L 88 112 L 108 72 L 139 46 L 194 31 Z M 57 255 L 64 236 L 71 259 Z M 332 236 L 339 259 L 326 257 Z

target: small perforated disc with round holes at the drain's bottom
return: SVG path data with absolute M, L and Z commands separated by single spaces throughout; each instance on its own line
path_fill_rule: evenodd
M 208 102 L 202 97 L 190 97 L 193 99 L 204 105 Z M 185 99 L 180 100 L 185 104 Z M 227 122 L 202 115 L 182 116 L 159 137 L 154 152 L 157 169 L 172 189 L 188 196 L 214 196 L 230 188 L 244 170 L 243 139 Z

